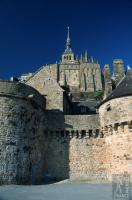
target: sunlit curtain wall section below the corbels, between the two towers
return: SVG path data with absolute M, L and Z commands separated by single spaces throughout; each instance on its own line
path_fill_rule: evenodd
M 80 180 L 105 180 L 106 149 L 103 138 L 76 138 L 70 141 L 70 178 Z

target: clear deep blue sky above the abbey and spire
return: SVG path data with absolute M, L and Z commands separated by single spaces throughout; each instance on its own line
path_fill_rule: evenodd
M 67 26 L 75 54 L 132 66 L 131 0 L 0 0 L 0 78 L 59 61 Z

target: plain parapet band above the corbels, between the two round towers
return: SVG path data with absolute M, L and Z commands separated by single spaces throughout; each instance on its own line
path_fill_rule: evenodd
M 46 111 L 48 131 L 85 131 L 98 132 L 99 116 L 96 115 L 63 115 L 61 111 Z

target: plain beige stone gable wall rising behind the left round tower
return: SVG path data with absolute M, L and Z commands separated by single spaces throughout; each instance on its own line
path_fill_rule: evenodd
M 48 70 L 47 67 L 42 67 L 26 81 L 26 84 L 46 97 L 47 110 L 63 111 L 63 89 L 59 87 Z

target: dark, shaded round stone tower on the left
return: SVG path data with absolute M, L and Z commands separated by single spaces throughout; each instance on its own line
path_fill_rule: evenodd
M 34 88 L 0 80 L 0 184 L 40 178 L 44 107 L 45 99 Z

